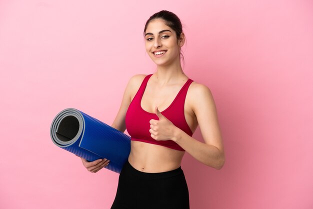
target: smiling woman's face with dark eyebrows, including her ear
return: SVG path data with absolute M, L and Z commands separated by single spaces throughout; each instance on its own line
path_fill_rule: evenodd
M 176 33 L 162 19 L 153 19 L 145 30 L 145 50 L 157 65 L 180 62 L 180 47 L 183 39 L 177 40 Z

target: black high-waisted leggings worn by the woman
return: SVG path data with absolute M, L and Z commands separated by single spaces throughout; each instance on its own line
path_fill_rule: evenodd
M 189 193 L 181 167 L 141 172 L 126 160 L 111 209 L 189 209 Z

